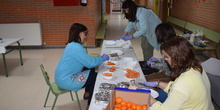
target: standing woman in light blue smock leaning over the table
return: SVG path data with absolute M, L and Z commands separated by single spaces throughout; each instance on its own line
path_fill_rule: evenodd
M 122 4 L 125 18 L 129 21 L 123 40 L 131 40 L 132 38 L 141 39 L 141 48 L 143 50 L 144 60 L 149 60 L 153 56 L 153 50 L 159 50 L 155 36 L 155 28 L 161 23 L 157 15 L 146 7 L 136 5 L 132 0 L 126 0 Z M 136 32 L 131 35 L 131 32 Z

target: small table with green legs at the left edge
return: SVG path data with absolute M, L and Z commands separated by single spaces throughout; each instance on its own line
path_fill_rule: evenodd
M 20 63 L 21 63 L 21 65 L 23 65 L 21 45 L 19 42 L 22 39 L 23 38 L 3 38 L 3 40 L 0 42 L 0 53 L 2 54 L 2 57 L 3 57 L 4 72 L 5 72 L 6 77 L 8 77 L 8 70 L 7 70 L 7 64 L 6 64 L 6 59 L 5 59 L 6 54 L 8 54 L 12 50 L 18 48 L 19 55 L 20 55 Z M 6 47 L 8 47 L 9 45 L 14 44 L 14 43 L 17 43 L 18 46 L 16 46 L 15 48 L 9 49 L 9 50 L 6 49 Z

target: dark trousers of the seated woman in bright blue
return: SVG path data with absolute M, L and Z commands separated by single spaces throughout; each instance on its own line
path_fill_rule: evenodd
M 97 73 L 95 72 L 95 68 L 90 69 L 89 77 L 84 84 L 83 88 L 85 87 L 85 92 L 89 92 L 89 99 L 88 99 L 88 105 L 90 105 L 92 94 L 95 86 L 95 81 L 97 77 Z

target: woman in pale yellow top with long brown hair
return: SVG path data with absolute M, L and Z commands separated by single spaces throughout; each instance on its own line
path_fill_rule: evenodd
M 182 37 L 164 42 L 160 51 L 169 63 L 174 81 L 144 82 L 146 86 L 159 87 L 168 93 L 161 103 L 151 97 L 153 110 L 214 110 L 210 82 L 206 72 L 195 58 L 193 46 Z

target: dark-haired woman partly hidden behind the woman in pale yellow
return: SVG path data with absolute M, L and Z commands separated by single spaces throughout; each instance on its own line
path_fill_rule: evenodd
M 157 42 L 159 44 L 163 44 L 164 42 L 168 41 L 169 39 L 172 39 L 176 36 L 176 33 L 173 29 L 173 27 L 168 24 L 168 23 L 161 23 L 159 24 L 156 29 L 155 29 L 156 37 L 157 37 Z M 139 64 L 141 65 L 141 69 L 146 75 L 146 80 L 162 80 L 162 81 L 170 81 L 170 67 L 169 64 L 164 60 L 164 58 L 155 58 L 151 57 L 148 61 L 139 61 Z M 163 71 L 159 72 L 159 68 L 152 68 L 151 63 L 156 62 L 157 64 L 160 63 L 162 64 L 163 62 Z M 161 69 L 160 69 L 161 70 Z M 152 74 L 155 73 L 155 74 Z M 165 93 L 162 89 L 159 89 L 157 91 L 159 93 L 159 97 L 156 99 L 160 102 L 164 102 L 167 98 L 167 93 Z

